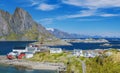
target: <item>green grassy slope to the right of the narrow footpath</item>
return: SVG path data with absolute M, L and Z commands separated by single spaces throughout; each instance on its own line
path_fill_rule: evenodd
M 86 59 L 87 73 L 120 73 L 120 52 L 115 50 L 111 52 L 113 54 L 109 57 Z

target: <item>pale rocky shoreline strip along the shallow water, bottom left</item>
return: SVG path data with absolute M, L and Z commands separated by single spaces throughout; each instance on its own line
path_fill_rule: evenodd
M 18 59 L 8 60 L 5 58 L 5 56 L 0 56 L 0 64 L 37 70 L 59 70 L 60 68 L 64 67 L 63 63 L 33 62 Z

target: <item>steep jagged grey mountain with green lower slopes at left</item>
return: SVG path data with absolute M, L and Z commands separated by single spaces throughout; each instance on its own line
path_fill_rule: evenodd
M 0 10 L 0 40 L 41 40 L 54 36 L 21 8 L 13 14 Z

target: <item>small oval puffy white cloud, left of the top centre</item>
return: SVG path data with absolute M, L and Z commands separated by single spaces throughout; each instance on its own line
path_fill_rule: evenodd
M 49 5 L 49 4 L 46 4 L 46 3 L 42 3 L 37 7 L 37 9 L 43 10 L 43 11 L 50 11 L 50 10 L 54 10 L 58 7 L 59 6 L 57 6 L 57 5 Z

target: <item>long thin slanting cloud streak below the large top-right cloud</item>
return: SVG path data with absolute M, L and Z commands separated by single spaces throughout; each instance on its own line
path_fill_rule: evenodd
M 78 18 L 79 21 L 99 21 L 99 20 L 101 20 L 101 19 L 89 19 L 89 18 L 82 19 L 82 17 L 90 17 L 90 16 L 114 17 L 114 16 L 120 16 L 120 14 L 98 13 L 97 10 L 90 9 L 90 10 L 82 10 L 76 14 L 61 15 L 61 16 L 56 16 L 53 18 L 41 19 L 40 22 L 44 22 L 44 24 L 51 24 L 56 20 L 74 19 L 74 18 Z

